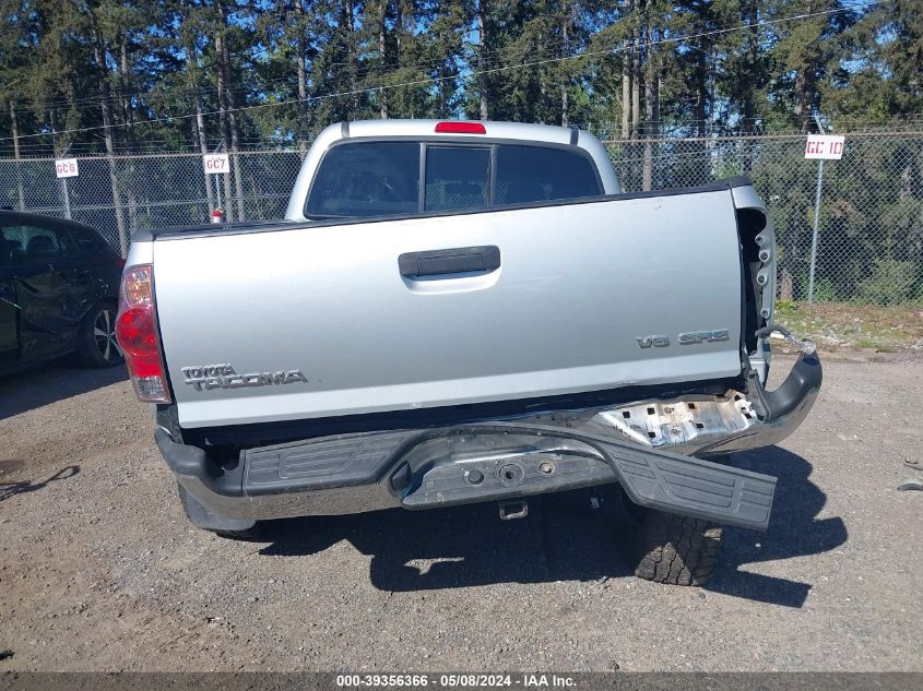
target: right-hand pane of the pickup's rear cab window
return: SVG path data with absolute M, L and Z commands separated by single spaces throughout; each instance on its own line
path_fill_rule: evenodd
M 496 204 L 602 194 L 592 162 L 578 152 L 541 146 L 497 147 Z

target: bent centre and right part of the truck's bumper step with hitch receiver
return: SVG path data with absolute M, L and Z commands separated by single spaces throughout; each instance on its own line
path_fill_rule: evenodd
M 768 475 L 612 434 L 535 422 L 471 422 L 428 433 L 461 437 L 469 454 L 483 455 L 453 458 L 450 453 L 441 463 L 423 464 L 428 469 L 403 491 L 405 509 L 489 500 L 500 502 L 500 519 L 520 519 L 526 515 L 526 495 L 617 481 L 642 507 L 757 531 L 769 525 L 776 478 Z M 530 440 L 532 449 L 513 461 L 509 452 Z M 427 458 L 431 450 L 421 443 L 403 456 L 405 462 L 415 452 Z M 492 466 L 496 469 L 489 472 Z

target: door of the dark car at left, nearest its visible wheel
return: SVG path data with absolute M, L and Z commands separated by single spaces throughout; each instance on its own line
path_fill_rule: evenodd
M 11 243 L 8 284 L 19 312 L 20 359 L 32 360 L 70 348 L 80 317 L 70 285 L 60 273 L 61 243 L 51 228 L 3 227 Z

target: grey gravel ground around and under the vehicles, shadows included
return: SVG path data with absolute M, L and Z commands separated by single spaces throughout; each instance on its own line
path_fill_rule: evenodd
M 923 358 L 825 367 L 807 422 L 738 456 L 780 478 L 772 525 L 726 529 L 705 588 L 631 576 L 587 492 L 223 540 L 187 524 L 123 372 L 8 378 L 0 671 L 923 671 L 923 492 L 896 491 Z

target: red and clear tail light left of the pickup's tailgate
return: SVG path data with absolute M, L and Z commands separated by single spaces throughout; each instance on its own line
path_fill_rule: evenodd
M 154 267 L 151 264 L 129 266 L 122 274 L 116 338 L 125 352 L 138 400 L 169 403 L 154 308 Z

